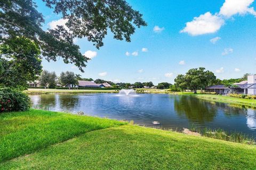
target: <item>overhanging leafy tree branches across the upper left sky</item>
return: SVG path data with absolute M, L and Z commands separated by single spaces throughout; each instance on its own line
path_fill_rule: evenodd
M 81 71 L 89 60 L 79 51 L 74 38 L 86 37 L 99 48 L 108 30 L 114 38 L 131 41 L 135 27 L 147 25 L 142 14 L 124 0 L 42 0 L 66 22 L 55 29 L 43 30 L 42 13 L 33 0 L 0 0 L 0 44 L 10 39 L 25 37 L 33 41 L 47 61 L 62 57 L 65 63 L 74 63 Z M 14 50 L 14 49 L 12 49 Z

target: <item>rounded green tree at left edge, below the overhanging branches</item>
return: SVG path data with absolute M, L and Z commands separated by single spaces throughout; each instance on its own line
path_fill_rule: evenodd
M 39 55 L 39 47 L 28 38 L 5 40 L 0 45 L 0 87 L 26 89 L 27 81 L 36 80 L 42 70 Z

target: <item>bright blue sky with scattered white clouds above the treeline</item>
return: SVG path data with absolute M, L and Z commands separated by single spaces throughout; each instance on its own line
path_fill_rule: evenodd
M 173 83 L 178 74 L 196 67 L 205 67 L 220 79 L 256 73 L 254 0 L 127 2 L 148 23 L 136 30 L 131 43 L 113 39 L 108 32 L 105 45 L 97 50 L 86 38 L 78 39 L 81 53 L 93 57 L 84 73 L 73 64 L 64 64 L 62 58 L 44 60 L 44 69 L 57 74 L 73 71 L 83 78 L 155 84 Z M 41 0 L 36 3 L 45 16 L 44 29 L 63 23 Z

